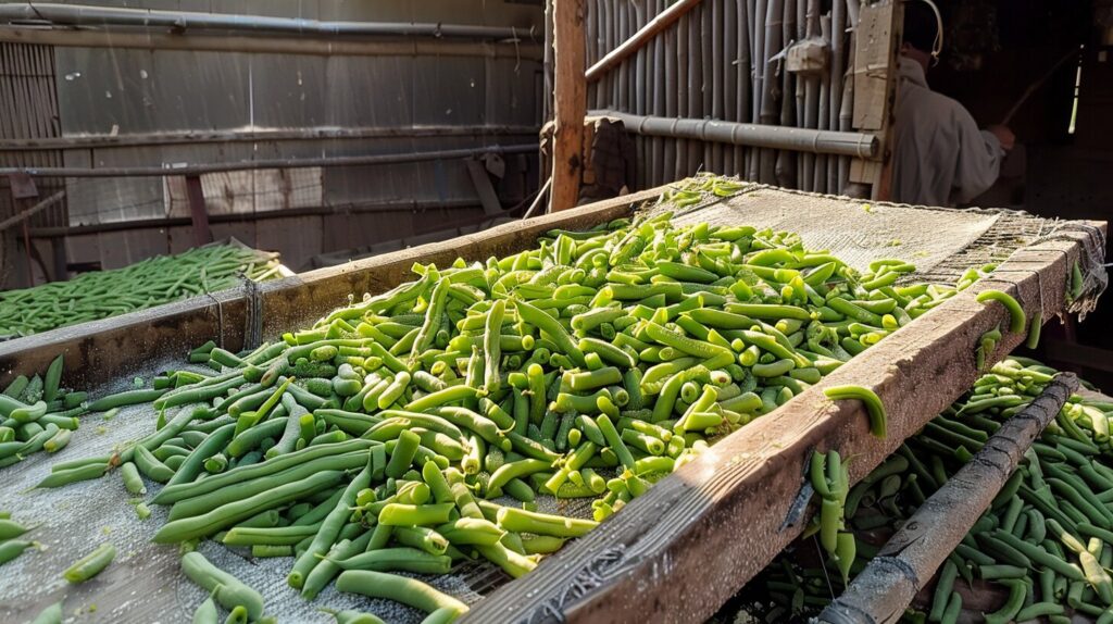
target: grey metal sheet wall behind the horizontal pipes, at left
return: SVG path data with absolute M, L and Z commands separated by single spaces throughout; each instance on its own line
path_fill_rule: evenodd
M 321 20 L 514 26 L 521 29 L 523 41 L 532 37 L 531 29 L 538 32 L 534 48 L 540 43 L 542 17 L 540 2 L 499 0 L 69 3 Z M 515 58 L 506 53 L 435 57 L 27 48 L 41 48 L 51 61 L 39 65 L 49 72 L 47 76 L 56 76 L 52 82 L 46 79 L 51 89 L 57 89 L 59 102 L 50 126 L 55 133 L 36 135 L 17 128 L 0 138 L 61 136 L 81 138 L 83 145 L 63 152 L 0 151 L 0 159 L 10 165 L 47 165 L 43 159 L 53 159 L 50 165 L 68 167 L 173 167 L 400 153 L 533 143 L 540 127 L 541 65 L 536 53 L 533 58 Z M 7 60 L 0 62 L 0 77 L 11 71 L 10 66 Z M 0 106 L 7 112 L 7 103 Z M 24 109 L 24 102 L 13 105 L 16 111 Z M 265 137 L 283 130 L 314 130 L 325 138 L 240 137 L 228 141 L 128 145 L 131 137 L 142 136 L 146 140 L 159 132 L 255 132 Z M 335 138 L 337 135 L 355 138 Z M 106 145 L 110 142 L 124 147 Z M 501 182 L 495 180 L 504 202 L 521 199 L 536 184 L 533 160 L 508 158 L 506 177 Z M 483 216 L 475 186 L 462 161 L 248 171 L 206 176 L 204 181 L 207 202 L 215 214 L 269 214 L 322 206 L 341 212 L 306 215 L 303 210 L 289 218 L 214 224 L 214 236 L 236 236 L 248 245 L 280 250 L 294 267 L 316 254 L 412 236 Z M 180 178 L 70 178 L 66 188 L 70 226 L 188 215 L 181 201 Z M 423 209 L 387 214 L 359 210 L 362 206 L 398 204 Z M 99 263 L 112 268 L 190 244 L 188 228 L 171 227 L 71 236 L 67 249 L 70 263 Z

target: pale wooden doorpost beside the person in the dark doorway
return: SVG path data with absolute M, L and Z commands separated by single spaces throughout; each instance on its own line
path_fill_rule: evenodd
M 892 129 L 903 30 L 900 0 L 863 4 L 855 32 L 854 129 L 876 135 L 881 149 L 876 160 L 850 161 L 850 181 L 870 185 L 874 199 L 888 199 L 892 187 Z

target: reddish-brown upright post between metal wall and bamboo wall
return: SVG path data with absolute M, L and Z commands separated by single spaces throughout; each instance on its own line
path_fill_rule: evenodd
M 583 174 L 583 119 L 588 115 L 584 79 L 583 0 L 553 2 L 553 212 L 580 200 Z

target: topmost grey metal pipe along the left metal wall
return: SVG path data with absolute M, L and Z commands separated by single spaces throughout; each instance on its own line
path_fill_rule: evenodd
M 200 13 L 158 9 L 119 9 L 82 4 L 20 2 L 0 4 L 0 20 L 7 22 L 51 23 L 63 26 L 124 26 L 198 30 L 242 30 L 312 36 L 359 37 L 462 37 L 471 39 L 520 39 L 532 37 L 532 26 L 472 26 L 422 22 L 318 21 L 303 18 L 276 18 L 236 13 Z

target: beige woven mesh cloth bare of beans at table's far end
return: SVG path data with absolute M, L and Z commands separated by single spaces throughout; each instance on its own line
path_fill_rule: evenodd
M 700 191 L 707 177 L 677 182 L 686 192 Z M 1082 296 L 1067 311 L 1084 316 L 1097 305 L 1109 284 L 1105 236 L 1083 221 L 1044 218 L 1003 208 L 933 208 L 818 195 L 742 182 L 740 192 L 702 198 L 677 209 L 671 202 L 648 202 L 650 214 L 673 212 L 673 222 L 754 226 L 800 235 L 808 249 L 827 249 L 865 271 L 869 263 L 897 258 L 916 266 L 905 279 L 954 284 L 972 267 L 999 264 L 1017 250 L 1046 240 L 1082 237 Z

